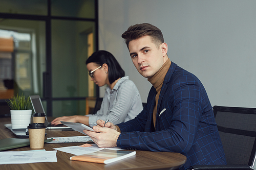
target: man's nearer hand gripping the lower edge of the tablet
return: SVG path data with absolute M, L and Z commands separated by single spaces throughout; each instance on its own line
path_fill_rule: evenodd
M 106 128 L 107 124 L 111 126 L 112 123 L 106 123 L 105 127 L 101 127 L 102 124 L 94 126 L 93 130 L 95 130 L 96 132 L 92 132 L 88 130 L 83 130 L 83 132 L 86 133 L 88 136 L 90 136 L 93 139 L 93 141 L 98 145 L 99 148 L 117 147 L 116 141 L 120 133 L 114 129 Z M 104 123 L 103 123 L 103 126 L 104 126 Z

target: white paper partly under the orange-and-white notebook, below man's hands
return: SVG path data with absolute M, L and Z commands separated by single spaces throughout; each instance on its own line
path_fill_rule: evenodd
M 67 152 L 70 154 L 74 154 L 74 155 L 82 155 L 82 154 L 90 154 L 96 151 L 100 151 L 104 148 L 99 148 L 97 146 L 97 144 L 93 144 L 91 147 L 78 147 L 78 146 L 74 146 L 74 147 L 62 147 L 62 148 L 54 148 L 54 150 L 58 150 L 58 151 L 62 151 L 62 152 Z M 118 147 L 114 147 L 114 148 L 105 148 L 105 149 L 110 149 L 110 150 L 121 150 L 121 148 Z

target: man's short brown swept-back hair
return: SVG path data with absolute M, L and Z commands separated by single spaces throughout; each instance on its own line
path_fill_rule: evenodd
M 122 38 L 125 39 L 127 48 L 129 49 L 129 42 L 140 38 L 142 36 L 148 35 L 151 37 L 153 43 L 160 45 L 164 42 L 163 34 L 156 26 L 150 23 L 140 23 L 131 26 L 122 34 Z

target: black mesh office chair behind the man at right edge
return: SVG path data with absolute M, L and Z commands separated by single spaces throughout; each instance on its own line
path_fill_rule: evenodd
M 256 108 L 214 106 L 226 165 L 193 165 L 188 169 L 253 169 L 256 152 Z

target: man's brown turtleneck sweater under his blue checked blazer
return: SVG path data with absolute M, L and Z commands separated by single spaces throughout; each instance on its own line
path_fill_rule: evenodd
M 159 95 L 163 85 L 163 81 L 164 81 L 165 75 L 167 74 L 170 68 L 170 64 L 171 64 L 170 60 L 167 59 L 167 61 L 163 64 L 163 66 L 159 69 L 159 71 L 157 71 L 154 76 L 147 79 L 147 81 L 151 82 L 151 84 L 155 87 L 157 91 L 156 105 L 153 110 L 153 123 L 155 128 L 156 128 L 156 117 L 157 117 L 157 103 L 158 103 Z

